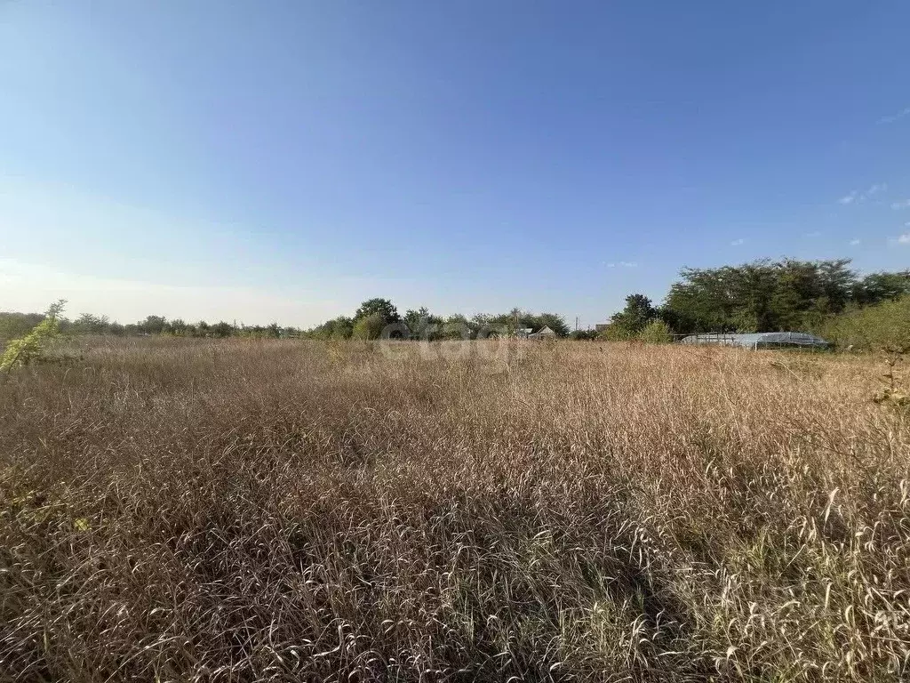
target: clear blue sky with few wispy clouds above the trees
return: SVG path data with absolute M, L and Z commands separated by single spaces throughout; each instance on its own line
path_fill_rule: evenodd
M 0 0 L 0 310 L 582 326 L 910 266 L 910 4 Z

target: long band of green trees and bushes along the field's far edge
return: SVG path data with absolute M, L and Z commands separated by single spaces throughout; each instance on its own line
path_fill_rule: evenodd
M 308 330 L 282 327 L 277 322 L 250 326 L 227 321 L 167 320 L 157 315 L 121 324 L 91 313 L 74 320 L 61 317 L 59 327 L 64 334 L 319 340 L 370 340 L 378 339 L 383 331 L 391 331 L 392 336 L 431 341 L 476 339 L 549 327 L 561 337 L 576 339 L 666 342 L 673 335 L 694 332 L 827 331 L 834 335 L 836 321 L 860 320 L 857 311 L 898 300 L 910 301 L 910 270 L 861 277 L 850 268 L 850 260 L 784 259 L 713 269 L 684 268 L 662 303 L 655 305 L 643 294 L 630 294 L 625 308 L 614 314 L 608 324 L 589 331 L 570 331 L 557 313 L 520 309 L 468 317 L 457 313 L 441 316 L 421 307 L 401 315 L 391 301 L 380 298 L 364 301 L 349 316 L 339 316 Z M 869 315 L 863 320 L 868 320 Z M 895 317 L 893 312 L 889 316 Z M 0 312 L 0 339 L 20 337 L 43 318 L 42 313 Z

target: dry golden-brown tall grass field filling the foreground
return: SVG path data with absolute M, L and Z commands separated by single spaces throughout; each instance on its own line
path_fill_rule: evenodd
M 875 359 L 418 348 L 82 342 L 0 381 L 0 678 L 910 677 Z

